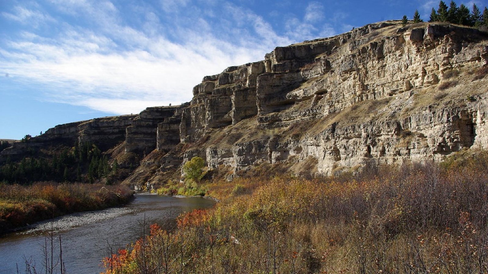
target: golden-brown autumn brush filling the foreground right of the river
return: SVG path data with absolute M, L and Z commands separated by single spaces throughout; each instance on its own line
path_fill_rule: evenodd
M 206 183 L 215 208 L 104 259 L 130 273 L 486 273 L 488 152 L 356 176 Z

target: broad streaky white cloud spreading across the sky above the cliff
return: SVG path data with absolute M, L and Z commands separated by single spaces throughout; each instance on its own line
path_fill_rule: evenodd
M 189 101 L 205 75 L 263 59 L 275 46 L 335 34 L 330 24 L 312 24 L 324 17 L 318 2 L 309 3 L 303 20 L 286 20 L 280 35 L 250 9 L 220 0 L 201 6 L 191 0 L 144 3 L 131 7 L 137 20 L 108 0 L 47 1 L 71 20 L 49 36 L 25 28 L 18 38 L 0 40 L 0 75 L 43 84 L 49 101 L 115 114 Z M 209 5 L 223 12 L 215 15 Z M 22 6 L 2 16 L 54 20 Z

